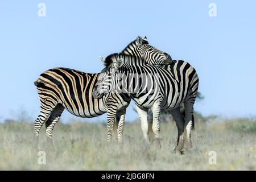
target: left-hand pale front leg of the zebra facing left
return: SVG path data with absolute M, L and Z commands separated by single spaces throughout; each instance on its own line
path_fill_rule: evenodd
M 143 137 L 146 140 L 147 145 L 149 146 L 150 140 L 148 137 L 148 121 L 147 121 L 148 110 L 143 110 L 139 108 L 137 105 L 136 105 L 136 110 L 139 115 L 139 119 L 141 119 L 141 129 L 142 129 Z

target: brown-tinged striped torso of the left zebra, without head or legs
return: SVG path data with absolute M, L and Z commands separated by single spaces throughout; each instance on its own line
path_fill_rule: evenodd
M 91 118 L 106 113 L 106 103 L 117 101 L 125 105 L 130 98 L 125 94 L 108 94 L 101 99 L 92 96 L 98 73 L 84 73 L 68 68 L 53 68 L 42 73 L 35 85 L 40 101 L 62 104 L 70 113 L 78 117 Z

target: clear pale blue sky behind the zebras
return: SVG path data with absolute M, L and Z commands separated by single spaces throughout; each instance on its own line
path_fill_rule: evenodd
M 41 2 L 46 16 L 38 15 Z M 230 0 L 0 1 L 0 121 L 22 110 L 36 119 L 40 102 L 33 82 L 40 73 L 54 67 L 98 73 L 104 68 L 98 56 L 122 51 L 138 35 L 196 69 L 205 98 L 195 110 L 254 116 L 255 8 L 256 1 Z M 127 121 L 138 118 L 133 107 Z M 61 119 L 71 118 L 65 111 Z

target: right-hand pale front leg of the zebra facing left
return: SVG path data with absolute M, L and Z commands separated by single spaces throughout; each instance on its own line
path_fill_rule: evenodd
M 158 144 L 159 147 L 161 147 L 161 144 L 160 144 L 160 125 L 159 125 L 159 122 L 160 122 L 160 115 L 161 115 L 161 107 L 160 107 L 160 104 L 159 103 L 156 103 L 154 104 L 152 107 L 151 107 L 151 110 L 152 110 L 152 114 L 153 114 L 153 122 L 152 122 L 152 130 L 155 134 L 155 140 L 156 140 L 156 144 Z

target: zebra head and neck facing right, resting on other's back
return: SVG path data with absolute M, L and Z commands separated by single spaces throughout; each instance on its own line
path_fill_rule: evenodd
M 121 53 L 126 55 L 137 56 L 144 59 L 148 64 L 171 64 L 172 58 L 168 53 L 160 51 L 147 42 L 147 37 L 142 39 L 138 36 L 131 42 Z

